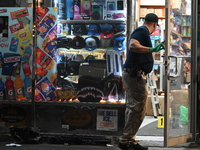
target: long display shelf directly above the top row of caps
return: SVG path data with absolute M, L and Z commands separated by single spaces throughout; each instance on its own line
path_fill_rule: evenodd
M 60 20 L 60 23 L 81 23 L 81 24 L 104 24 L 104 23 L 125 23 L 125 20 Z

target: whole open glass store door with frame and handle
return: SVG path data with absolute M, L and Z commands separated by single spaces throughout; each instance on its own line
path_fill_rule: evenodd
M 192 140 L 195 36 L 192 0 L 166 1 L 165 146 Z M 193 91 L 193 93 L 191 93 Z

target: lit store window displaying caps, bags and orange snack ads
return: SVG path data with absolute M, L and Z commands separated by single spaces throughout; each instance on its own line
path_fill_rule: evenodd
M 124 103 L 125 3 L 55 0 L 57 11 L 38 7 L 37 101 Z

